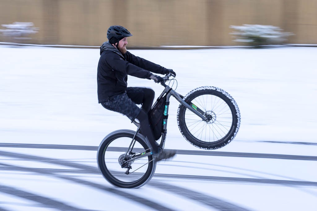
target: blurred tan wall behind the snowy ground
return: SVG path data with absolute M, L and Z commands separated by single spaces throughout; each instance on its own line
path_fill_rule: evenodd
M 230 25 L 274 25 L 288 43 L 317 44 L 317 0 L 0 0 L 0 24 L 33 22 L 24 43 L 100 46 L 110 25 L 126 27 L 130 47 L 227 46 Z M 0 36 L 0 41 L 5 41 Z

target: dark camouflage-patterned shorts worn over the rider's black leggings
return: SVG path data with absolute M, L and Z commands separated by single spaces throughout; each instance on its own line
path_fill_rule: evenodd
M 130 120 L 134 120 L 141 111 L 136 104 L 142 104 L 142 109 L 147 113 L 152 107 L 153 99 L 154 91 L 152 89 L 128 87 L 125 93 L 102 102 L 101 105 L 108 110 L 126 115 Z

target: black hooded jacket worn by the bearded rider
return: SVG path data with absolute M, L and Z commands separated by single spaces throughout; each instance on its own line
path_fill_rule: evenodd
M 100 47 L 97 69 L 99 103 L 124 93 L 127 87 L 127 75 L 149 78 L 152 75 L 150 71 L 159 74 L 168 72 L 166 68 L 134 56 L 128 51 L 122 55 L 109 41 L 104 42 Z

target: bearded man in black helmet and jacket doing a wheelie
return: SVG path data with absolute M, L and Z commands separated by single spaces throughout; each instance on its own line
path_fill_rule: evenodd
M 148 88 L 127 87 L 127 75 L 153 79 L 156 83 L 164 81 L 158 75 L 176 76 L 172 69 L 166 69 L 146 59 L 134 56 L 126 50 L 127 37 L 132 34 L 122 26 L 110 26 L 107 30 L 107 42 L 100 47 L 100 59 L 97 71 L 98 102 L 112 111 L 126 115 L 132 121 L 138 119 L 140 132 L 152 146 L 156 161 L 171 158 L 176 151 L 166 151 L 154 140 L 149 126 L 148 112 L 152 107 L 154 91 Z M 151 72 L 150 72 L 150 71 Z M 141 109 L 136 104 L 142 104 Z

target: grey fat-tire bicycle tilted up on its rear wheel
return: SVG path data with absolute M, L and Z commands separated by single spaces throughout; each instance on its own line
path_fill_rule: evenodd
M 182 96 L 165 84 L 175 80 L 170 77 L 170 74 L 163 77 L 161 85 L 165 88 L 152 106 L 153 109 L 159 102 L 164 102 L 160 146 L 164 148 L 166 140 L 171 96 L 180 102 L 177 112 L 179 130 L 192 145 L 213 150 L 230 143 L 240 127 L 236 101 L 224 90 L 212 86 L 199 87 Z M 116 187 L 139 188 L 151 180 L 156 168 L 151 145 L 139 133 L 139 123 L 132 122 L 138 127 L 136 131 L 123 129 L 109 133 L 101 141 L 97 152 L 101 174 Z

